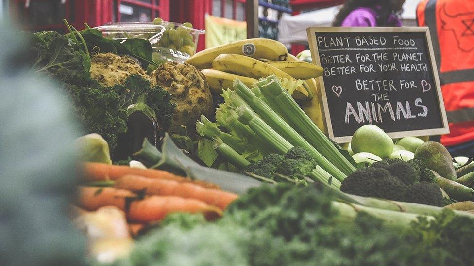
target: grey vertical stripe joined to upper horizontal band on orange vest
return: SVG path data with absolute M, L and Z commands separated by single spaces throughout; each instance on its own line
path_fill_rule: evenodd
M 438 39 L 438 27 L 437 27 L 438 24 L 437 24 L 437 19 L 436 19 L 436 0 L 429 0 L 428 3 L 426 3 L 424 16 L 425 16 L 426 26 L 430 28 L 431 41 L 433 42 L 433 50 L 435 54 L 436 65 L 438 67 L 438 73 L 440 73 L 441 85 L 474 81 L 474 69 L 463 69 L 463 70 L 448 71 L 448 72 L 441 73 L 440 71 L 441 49 L 440 49 L 440 42 Z M 448 120 L 449 120 L 449 116 L 448 116 Z

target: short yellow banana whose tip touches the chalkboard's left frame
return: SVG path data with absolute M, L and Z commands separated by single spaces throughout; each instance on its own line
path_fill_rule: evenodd
M 321 66 L 304 61 L 275 61 L 268 63 L 291 75 L 293 78 L 302 80 L 317 78 L 324 71 Z

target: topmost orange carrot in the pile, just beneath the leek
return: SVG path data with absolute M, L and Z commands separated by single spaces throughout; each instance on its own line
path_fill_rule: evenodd
M 104 163 L 87 162 L 83 164 L 83 175 L 87 181 L 115 180 L 127 174 L 141 175 L 148 178 L 175 180 L 178 182 L 191 182 L 205 188 L 219 189 L 217 185 L 201 181 L 191 180 L 170 172 L 155 169 L 139 169 L 124 165 L 110 165 Z

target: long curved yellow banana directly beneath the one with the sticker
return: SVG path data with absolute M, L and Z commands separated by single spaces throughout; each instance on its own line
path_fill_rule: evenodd
M 274 74 L 296 82 L 295 78 L 280 69 L 245 55 L 221 54 L 212 61 L 212 68 L 256 79 Z M 298 100 L 311 100 L 312 95 L 308 91 L 304 86 L 298 86 L 293 97 Z

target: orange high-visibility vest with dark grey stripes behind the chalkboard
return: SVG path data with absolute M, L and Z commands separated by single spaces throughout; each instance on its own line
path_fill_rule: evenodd
M 450 133 L 441 143 L 474 141 L 474 0 L 423 0 L 419 26 L 428 26 L 440 73 Z

